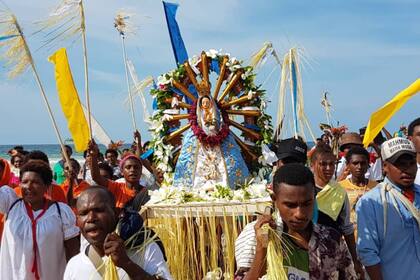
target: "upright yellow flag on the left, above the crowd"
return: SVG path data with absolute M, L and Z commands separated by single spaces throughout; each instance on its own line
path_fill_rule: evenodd
M 76 151 L 82 152 L 87 149 L 89 142 L 89 127 L 74 86 L 66 49 L 59 49 L 48 58 L 48 61 L 55 66 L 58 97 L 64 116 L 67 119 L 67 126 L 73 138 L 74 146 Z

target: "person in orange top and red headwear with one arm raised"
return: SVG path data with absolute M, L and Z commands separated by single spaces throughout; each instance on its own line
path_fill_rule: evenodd
M 89 142 L 88 151 L 91 156 L 90 170 L 92 179 L 100 186 L 106 187 L 115 196 L 116 207 L 129 207 L 139 211 L 149 199 L 147 189 L 140 185 L 142 174 L 142 162 L 136 155 L 128 154 L 120 161 L 121 173 L 125 179 L 124 183 L 118 183 L 101 176 L 98 166 L 99 149 L 94 140 Z

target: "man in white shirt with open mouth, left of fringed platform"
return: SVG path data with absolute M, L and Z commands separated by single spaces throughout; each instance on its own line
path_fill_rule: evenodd
M 84 191 L 78 198 L 77 212 L 77 224 L 89 245 L 69 261 L 65 280 L 103 279 L 103 263 L 108 258 L 117 267 L 119 279 L 172 279 L 155 242 L 144 241 L 140 251 L 125 248 L 124 240 L 115 233 L 115 198 L 107 189 L 91 187 Z

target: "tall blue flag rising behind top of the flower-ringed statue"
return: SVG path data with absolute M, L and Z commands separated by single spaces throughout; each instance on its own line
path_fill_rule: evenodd
M 176 64 L 182 64 L 188 59 L 187 49 L 179 31 L 178 23 L 175 19 L 178 4 L 162 1 L 165 10 L 166 23 L 168 25 L 169 36 L 171 37 L 172 50 L 174 51 Z

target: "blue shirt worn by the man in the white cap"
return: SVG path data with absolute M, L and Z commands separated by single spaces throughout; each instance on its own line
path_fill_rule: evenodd
M 359 199 L 357 253 L 365 266 L 381 265 L 384 280 L 420 279 L 420 230 L 413 215 L 397 200 L 395 209 L 387 197 L 387 228 L 384 236 L 384 207 L 381 188 L 385 183 L 401 192 L 388 179 Z M 420 209 L 420 186 L 414 185 L 414 206 Z M 401 213 L 401 216 L 400 216 Z

